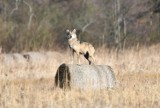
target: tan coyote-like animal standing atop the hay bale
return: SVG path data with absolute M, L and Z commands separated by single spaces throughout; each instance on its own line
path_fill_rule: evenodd
M 95 49 L 94 49 L 93 45 L 91 45 L 90 43 L 87 43 L 87 42 L 80 42 L 77 39 L 76 29 L 73 29 L 73 31 L 70 31 L 67 29 L 66 33 L 68 36 L 68 44 L 69 44 L 69 47 L 72 51 L 73 59 L 74 59 L 74 53 L 77 54 L 78 60 L 79 60 L 79 56 L 81 54 L 88 60 L 89 65 L 91 63 L 94 64 L 94 62 L 95 62 L 95 58 L 94 58 Z M 80 63 L 80 61 L 79 61 L 79 63 Z

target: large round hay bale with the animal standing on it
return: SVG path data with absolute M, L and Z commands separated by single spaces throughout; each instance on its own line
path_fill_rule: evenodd
M 62 64 L 55 76 L 55 85 L 64 89 L 106 89 L 115 83 L 114 72 L 106 65 Z

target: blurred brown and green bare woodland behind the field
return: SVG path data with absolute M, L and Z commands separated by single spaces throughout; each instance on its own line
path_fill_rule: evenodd
M 68 47 L 66 29 L 95 47 L 160 42 L 160 0 L 0 0 L 4 52 Z

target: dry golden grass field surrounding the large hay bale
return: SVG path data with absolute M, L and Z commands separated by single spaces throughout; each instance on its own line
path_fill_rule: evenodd
M 96 64 L 110 65 L 118 82 L 114 89 L 97 91 L 55 88 L 54 75 L 60 64 L 70 63 L 69 51 L 43 53 L 47 57 L 30 62 L 7 61 L 1 54 L 0 108 L 160 107 L 160 45 L 135 47 L 119 55 L 97 49 Z M 81 57 L 81 63 L 88 62 Z

